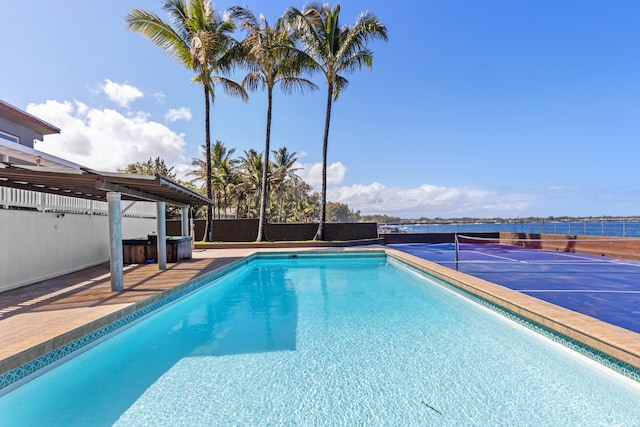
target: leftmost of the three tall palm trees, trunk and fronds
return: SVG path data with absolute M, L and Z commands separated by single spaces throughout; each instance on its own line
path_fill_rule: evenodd
M 205 183 L 207 198 L 212 199 L 210 106 L 215 100 L 214 87 L 220 84 L 227 94 L 247 100 L 241 85 L 216 75 L 229 72 L 234 65 L 234 58 L 229 52 L 237 43 L 231 36 L 236 25 L 231 18 L 218 15 L 210 0 L 165 0 L 162 9 L 169 15 L 168 22 L 154 12 L 141 9 L 131 9 L 125 22 L 131 31 L 144 35 L 194 71 L 196 75 L 192 81 L 202 84 L 205 100 Z M 213 210 L 211 205 L 207 205 L 205 239 L 208 241 L 213 240 L 212 221 Z

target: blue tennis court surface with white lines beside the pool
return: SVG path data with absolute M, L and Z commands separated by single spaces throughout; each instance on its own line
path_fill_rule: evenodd
M 389 245 L 456 269 L 453 243 Z M 640 333 L 640 262 L 460 243 L 457 270 Z

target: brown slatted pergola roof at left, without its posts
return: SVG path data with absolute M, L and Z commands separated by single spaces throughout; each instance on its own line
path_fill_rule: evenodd
M 0 186 L 82 199 L 106 201 L 117 191 L 122 200 L 174 205 L 211 205 L 213 201 L 161 175 L 130 175 L 87 168 L 47 168 L 0 163 Z

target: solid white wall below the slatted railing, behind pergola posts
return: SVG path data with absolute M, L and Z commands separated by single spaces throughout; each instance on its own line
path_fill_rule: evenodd
M 123 239 L 156 228 L 155 218 L 122 218 Z M 0 209 L 0 292 L 108 261 L 105 215 Z

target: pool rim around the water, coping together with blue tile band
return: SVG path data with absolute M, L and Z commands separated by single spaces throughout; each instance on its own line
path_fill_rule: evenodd
M 581 354 L 640 381 L 640 334 L 598 319 L 555 306 L 483 279 L 460 273 L 396 249 L 358 248 L 351 256 L 379 253 L 438 279 L 438 283 L 463 293 Z M 191 294 L 211 280 L 246 265 L 256 258 L 345 255 L 334 250 L 255 251 L 201 276 L 159 292 L 141 301 L 100 317 L 69 332 L 37 344 L 0 361 L 0 394 L 22 383 L 32 374 L 54 366 L 74 352 L 90 346 L 155 310 Z M 25 362 L 26 361 L 26 362 Z

